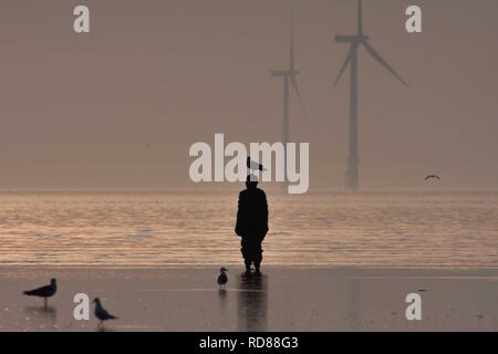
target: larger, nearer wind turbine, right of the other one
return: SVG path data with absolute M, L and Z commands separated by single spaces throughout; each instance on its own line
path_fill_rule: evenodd
M 350 190 L 356 190 L 359 188 L 359 139 L 357 139 L 357 50 L 360 46 L 366 50 L 366 52 L 376 60 L 382 66 L 384 66 L 391 74 L 393 74 L 405 86 L 406 82 L 387 64 L 387 62 L 373 49 L 369 43 L 369 37 L 363 33 L 363 17 L 362 17 L 362 0 L 357 2 L 357 33 L 352 35 L 335 35 L 335 42 L 349 43 L 350 51 L 345 59 L 345 62 L 339 72 L 334 86 L 338 85 L 342 74 L 346 67 L 351 66 L 351 86 L 350 86 L 350 146 L 347 157 L 347 170 L 345 174 L 345 187 Z

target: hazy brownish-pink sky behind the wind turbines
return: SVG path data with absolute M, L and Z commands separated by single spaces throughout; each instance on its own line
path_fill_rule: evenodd
M 75 34 L 73 8 L 91 10 Z M 423 9 L 424 32 L 405 31 Z M 349 76 L 333 81 L 356 2 L 294 0 L 311 189 L 342 189 Z M 360 51 L 363 189 L 498 189 L 498 1 L 365 0 L 371 44 L 402 86 Z M 0 3 L 0 189 L 194 189 L 190 144 L 277 142 L 288 63 L 288 0 Z M 240 186 L 237 186 L 240 187 Z M 209 188 L 208 185 L 201 188 Z M 231 187 L 227 187 L 231 188 Z

